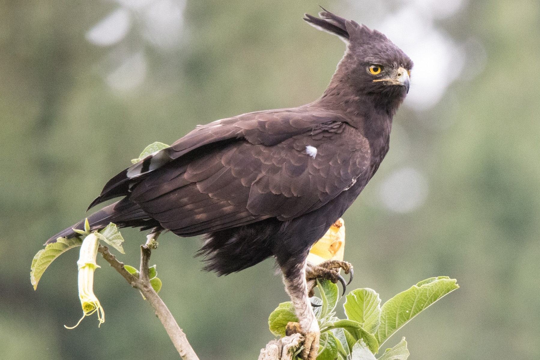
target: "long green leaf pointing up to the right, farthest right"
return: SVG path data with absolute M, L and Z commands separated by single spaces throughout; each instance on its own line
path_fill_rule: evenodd
M 456 279 L 447 276 L 431 277 L 389 299 L 382 305 L 381 323 L 375 333 L 379 343 L 382 345 L 410 319 L 459 287 Z

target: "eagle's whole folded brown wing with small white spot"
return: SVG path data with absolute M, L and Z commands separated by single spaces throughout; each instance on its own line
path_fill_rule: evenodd
M 300 109 L 200 126 L 111 179 L 93 204 L 127 195 L 192 236 L 318 209 L 369 168 L 369 144 L 340 116 Z M 146 162 L 146 163 L 145 163 Z

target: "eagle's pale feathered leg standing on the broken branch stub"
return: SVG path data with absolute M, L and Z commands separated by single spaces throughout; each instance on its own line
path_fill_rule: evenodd
M 309 302 L 306 283 L 306 261 L 292 266 L 281 266 L 285 291 L 291 297 L 300 323 L 301 333 L 304 335 L 304 349 L 302 359 L 315 360 L 319 352 L 320 329 L 315 318 L 311 302 Z

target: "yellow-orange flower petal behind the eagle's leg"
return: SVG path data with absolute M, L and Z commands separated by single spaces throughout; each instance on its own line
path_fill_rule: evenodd
M 319 265 L 327 260 L 343 261 L 345 252 L 345 222 L 338 219 L 325 236 L 316 242 L 307 256 L 307 261 L 314 265 Z

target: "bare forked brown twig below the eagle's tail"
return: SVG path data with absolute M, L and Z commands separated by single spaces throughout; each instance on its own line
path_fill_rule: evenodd
M 146 244 L 141 245 L 140 247 L 140 274 L 139 278 L 131 275 L 125 268 L 124 263 L 119 262 L 116 256 L 112 255 L 109 252 L 107 246 L 99 245 L 98 251 L 101 252 L 103 258 L 122 275 L 126 281 L 133 286 L 133 288 L 138 289 L 141 294 L 147 299 L 147 301 L 154 308 L 156 315 L 163 324 L 165 330 L 167 331 L 168 336 L 171 338 L 174 347 L 180 354 L 183 360 L 199 360 L 195 351 L 191 347 L 190 343 L 187 341 L 186 334 L 180 329 L 178 323 L 171 314 L 171 311 L 167 308 L 163 300 L 159 295 L 154 291 L 150 280 L 148 277 L 149 261 L 150 255 L 152 254 L 152 248 L 157 246 L 157 243 L 154 242 L 156 237 L 149 237 Z

